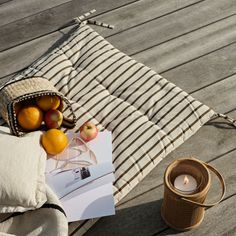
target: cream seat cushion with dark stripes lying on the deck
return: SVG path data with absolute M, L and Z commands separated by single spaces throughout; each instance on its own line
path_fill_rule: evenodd
M 116 203 L 215 114 L 88 25 L 22 76 L 44 77 L 71 100 L 75 131 L 87 120 L 112 131 Z

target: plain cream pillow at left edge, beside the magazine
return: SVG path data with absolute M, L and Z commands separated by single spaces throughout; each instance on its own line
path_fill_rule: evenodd
M 46 153 L 40 131 L 24 137 L 0 126 L 0 212 L 23 212 L 46 202 Z

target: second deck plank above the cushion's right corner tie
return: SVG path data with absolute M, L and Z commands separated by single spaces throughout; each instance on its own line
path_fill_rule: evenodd
M 162 76 L 191 93 L 234 74 L 235 60 L 236 43 L 162 73 Z

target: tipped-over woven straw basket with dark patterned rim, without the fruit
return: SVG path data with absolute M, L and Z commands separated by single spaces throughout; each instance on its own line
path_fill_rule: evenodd
M 72 119 L 67 119 L 67 121 L 69 120 L 71 126 L 75 125 L 76 116 L 69 100 L 58 92 L 50 81 L 42 77 L 21 78 L 19 80 L 11 80 L 0 88 L 0 113 L 14 135 L 21 136 L 26 132 L 17 123 L 15 105 L 44 95 L 57 95 L 60 97 L 61 101 L 63 101 L 63 107 L 68 107 L 72 113 Z

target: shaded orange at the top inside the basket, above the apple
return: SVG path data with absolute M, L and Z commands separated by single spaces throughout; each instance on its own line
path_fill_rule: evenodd
M 43 111 L 48 111 L 50 109 L 56 110 L 60 106 L 61 100 L 58 96 L 45 95 L 38 97 L 36 103 Z

